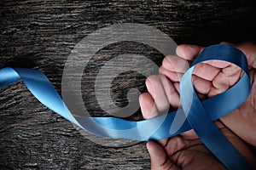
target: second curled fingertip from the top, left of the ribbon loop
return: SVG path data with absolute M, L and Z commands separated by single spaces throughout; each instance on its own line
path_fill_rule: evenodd
M 163 60 L 162 66 L 167 71 L 184 73 L 189 69 L 189 62 L 186 59 L 177 57 L 176 55 L 168 55 Z

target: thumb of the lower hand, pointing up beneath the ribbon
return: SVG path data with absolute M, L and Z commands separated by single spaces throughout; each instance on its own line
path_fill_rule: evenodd
M 150 155 L 151 169 L 178 169 L 166 156 L 166 151 L 159 144 L 149 141 L 147 148 Z

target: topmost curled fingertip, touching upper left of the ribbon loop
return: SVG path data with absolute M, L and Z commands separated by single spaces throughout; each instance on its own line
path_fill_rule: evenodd
M 183 59 L 194 60 L 202 49 L 201 46 L 181 44 L 177 46 L 176 54 Z

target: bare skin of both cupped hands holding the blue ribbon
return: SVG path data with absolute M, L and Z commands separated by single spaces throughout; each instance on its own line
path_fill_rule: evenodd
M 227 43 L 227 42 L 222 42 Z M 256 167 L 256 158 L 248 144 L 256 146 L 256 46 L 253 43 L 234 45 L 246 54 L 252 82 L 252 92 L 247 100 L 227 116 L 216 121 L 224 136 L 242 156 Z M 201 53 L 203 47 L 179 45 L 177 56 L 166 56 L 160 74 L 148 77 L 148 93 L 141 94 L 140 105 L 145 119 L 167 113 L 180 105 L 179 82 L 189 64 Z M 232 87 L 243 72 L 236 65 L 211 60 L 195 66 L 192 81 L 201 99 L 211 98 Z M 201 143 L 193 130 L 169 139 L 147 143 L 152 169 L 225 169 Z

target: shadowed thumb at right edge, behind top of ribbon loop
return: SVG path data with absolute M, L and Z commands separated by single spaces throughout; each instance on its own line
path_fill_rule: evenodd
M 242 51 L 247 56 L 248 65 L 256 69 L 256 45 L 252 42 L 243 42 L 240 44 L 233 44 L 230 42 L 221 42 L 221 44 L 227 44 L 234 46 Z

